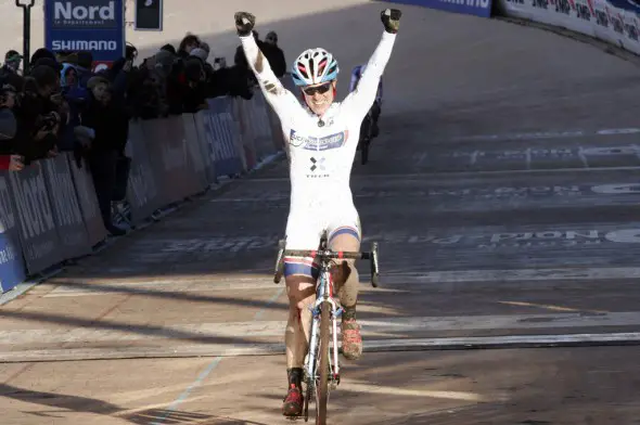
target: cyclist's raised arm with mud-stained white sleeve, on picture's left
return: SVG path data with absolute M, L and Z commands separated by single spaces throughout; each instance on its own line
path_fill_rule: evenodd
M 300 104 L 295 95 L 280 82 L 265 54 L 258 48 L 253 35 L 255 17 L 247 12 L 235 13 L 235 28 L 240 36 L 242 49 L 248 66 L 254 72 L 267 102 L 273 107 L 281 120 L 287 118 Z

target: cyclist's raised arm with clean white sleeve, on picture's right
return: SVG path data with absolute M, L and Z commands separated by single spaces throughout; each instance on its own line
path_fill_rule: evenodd
M 401 12 L 397 9 L 386 9 L 381 13 L 385 30 L 382 34 L 380 43 L 369 59 L 356 90 L 347 95 L 343 102 L 343 107 L 353 114 L 363 117 L 375 100 L 380 78 L 394 49 L 400 16 Z

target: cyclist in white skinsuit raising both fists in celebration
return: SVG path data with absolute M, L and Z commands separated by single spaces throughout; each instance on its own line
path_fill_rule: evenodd
M 334 102 L 337 61 L 324 49 L 305 50 L 291 73 L 300 89 L 304 105 L 276 77 L 269 61 L 252 36 L 255 16 L 235 13 L 235 27 L 247 62 L 265 98 L 278 114 L 286 137 L 291 178 L 291 202 L 285 237 L 289 249 L 317 249 L 327 231 L 335 250 L 359 250 L 360 219 L 349 188 L 360 124 L 375 99 L 377 81 L 396 40 L 401 13 L 381 12 L 384 33 L 369 60 L 358 88 Z M 342 344 L 345 358 L 356 360 L 362 338 L 356 322 L 358 271 L 353 261 L 343 261 L 333 271 L 341 305 Z M 290 312 L 285 330 L 289 390 L 283 402 L 285 416 L 303 411 L 303 366 L 308 349 L 310 309 L 313 304 L 318 267 L 313 258 L 284 258 Z

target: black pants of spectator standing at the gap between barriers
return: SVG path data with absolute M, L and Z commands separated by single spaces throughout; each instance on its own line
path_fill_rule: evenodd
M 117 151 L 99 151 L 89 154 L 89 169 L 95 186 L 98 205 L 102 221 L 106 229 L 113 226 L 111 217 L 111 199 L 116 184 Z

